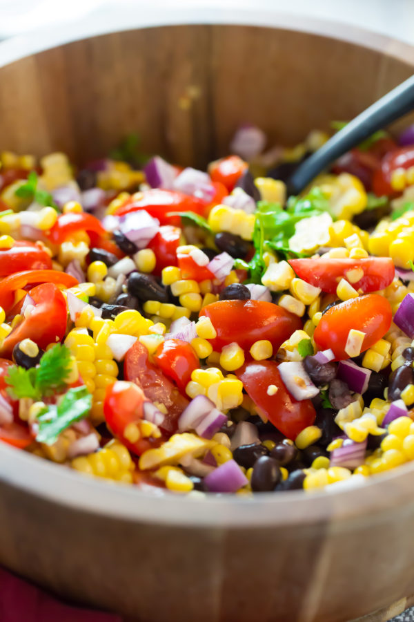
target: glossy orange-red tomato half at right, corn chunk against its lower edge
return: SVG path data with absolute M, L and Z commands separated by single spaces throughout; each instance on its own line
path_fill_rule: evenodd
M 346 341 L 351 329 L 365 333 L 361 352 L 368 350 L 389 330 L 393 312 L 384 296 L 366 294 L 346 300 L 328 309 L 313 333 L 313 339 L 321 350 L 333 350 L 336 359 L 348 359 Z

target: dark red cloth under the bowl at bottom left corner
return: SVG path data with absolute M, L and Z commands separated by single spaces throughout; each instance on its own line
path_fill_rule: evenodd
M 122 622 L 121 616 L 68 605 L 0 567 L 1 622 Z

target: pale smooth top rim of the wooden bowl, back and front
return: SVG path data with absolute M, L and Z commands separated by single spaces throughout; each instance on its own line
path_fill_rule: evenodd
M 37 30 L 21 37 L 0 43 L 0 67 L 41 51 L 68 44 L 72 41 L 100 35 L 135 30 L 180 25 L 230 25 L 260 26 L 307 32 L 331 39 L 348 41 L 377 50 L 403 62 L 414 65 L 414 46 L 385 37 L 362 28 L 337 24 L 322 19 L 298 18 L 273 11 L 251 9 L 233 11 L 215 10 L 214 19 L 197 9 L 166 10 L 162 18 L 147 15 L 119 16 L 114 23 L 94 23 L 73 28 Z M 411 510 L 414 464 L 406 464 L 397 471 L 389 471 L 367 478 L 358 487 L 346 484 L 331 487 L 328 492 L 312 494 L 303 491 L 263 493 L 254 498 L 240 496 L 180 497 L 172 493 L 157 496 L 157 490 L 137 491 L 125 484 L 111 484 L 97 478 L 80 476 L 64 466 L 56 465 L 35 455 L 24 453 L 6 444 L 0 444 L 0 480 L 59 505 L 95 513 L 115 519 L 157 525 L 175 525 L 194 528 L 283 525 L 312 525 L 329 522 L 330 529 L 345 531 L 355 526 L 355 521 L 386 520 L 396 507 Z

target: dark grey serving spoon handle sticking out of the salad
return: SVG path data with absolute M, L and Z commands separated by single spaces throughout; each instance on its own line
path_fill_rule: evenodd
M 368 136 L 414 110 L 414 75 L 369 106 L 299 164 L 288 180 L 289 194 L 299 194 L 328 164 Z

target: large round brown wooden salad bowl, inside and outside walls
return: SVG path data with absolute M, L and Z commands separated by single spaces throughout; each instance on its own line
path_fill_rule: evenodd
M 28 57 L 1 44 L 22 56 L 0 68 L 1 148 L 83 162 L 139 131 L 145 151 L 202 167 L 241 122 L 295 144 L 413 73 L 413 48 L 315 32 L 143 28 Z M 0 563 L 140 622 L 385 620 L 414 593 L 413 487 L 406 465 L 313 495 L 159 497 L 2 445 Z

